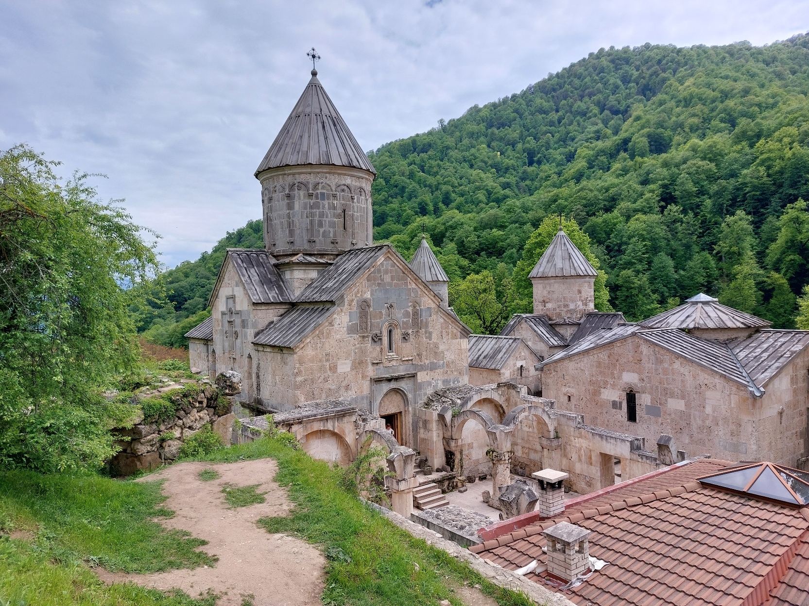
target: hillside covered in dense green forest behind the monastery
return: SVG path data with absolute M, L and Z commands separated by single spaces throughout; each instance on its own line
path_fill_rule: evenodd
M 560 216 L 602 271 L 599 309 L 640 320 L 706 292 L 795 326 L 809 314 L 807 95 L 805 35 L 601 48 L 370 152 L 375 238 L 409 259 L 426 234 L 474 330 L 530 311 L 527 273 Z M 260 221 L 165 272 L 140 309 L 147 338 L 184 344 L 227 246 L 260 247 Z

